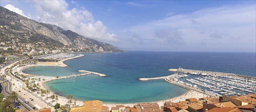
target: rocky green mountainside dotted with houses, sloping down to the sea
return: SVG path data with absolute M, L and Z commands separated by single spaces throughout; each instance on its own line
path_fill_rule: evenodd
M 113 45 L 89 39 L 61 27 L 40 23 L 0 7 L 0 53 L 5 50 L 29 52 L 69 50 L 84 52 L 119 52 Z M 2 52 L 1 52 L 2 51 Z

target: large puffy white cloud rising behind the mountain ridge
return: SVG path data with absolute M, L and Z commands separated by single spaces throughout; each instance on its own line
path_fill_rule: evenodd
M 69 10 L 69 5 L 65 1 L 34 1 L 34 3 L 36 18 L 40 22 L 55 24 L 65 30 L 100 41 L 119 40 L 115 34 L 108 32 L 107 27 L 100 20 L 95 21 L 93 14 L 84 8 Z

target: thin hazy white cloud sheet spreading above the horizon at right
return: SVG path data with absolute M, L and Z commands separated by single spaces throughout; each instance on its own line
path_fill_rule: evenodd
M 255 5 L 204 9 L 133 26 L 125 38 L 163 50 L 255 51 L 255 13 Z

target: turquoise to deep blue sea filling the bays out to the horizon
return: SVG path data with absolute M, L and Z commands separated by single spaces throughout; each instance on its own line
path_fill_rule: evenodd
M 141 81 L 139 78 L 174 74 L 171 68 L 235 73 L 256 77 L 255 52 L 163 52 L 127 51 L 82 53 L 85 56 L 66 61 L 69 67 L 36 66 L 24 73 L 46 76 L 80 74 L 78 70 L 108 76 L 86 75 L 46 82 L 60 96 L 73 95 L 78 100 L 104 103 L 155 102 L 174 98 L 189 90 L 164 79 Z

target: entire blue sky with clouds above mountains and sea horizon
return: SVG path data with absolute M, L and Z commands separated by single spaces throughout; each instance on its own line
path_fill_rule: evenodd
M 255 1 L 0 1 L 124 50 L 256 52 Z

